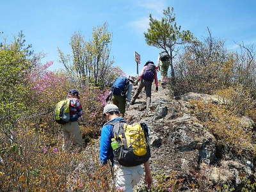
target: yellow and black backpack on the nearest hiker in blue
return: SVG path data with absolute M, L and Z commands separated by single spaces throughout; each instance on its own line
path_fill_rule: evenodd
M 150 158 L 146 124 L 127 124 L 124 120 L 111 122 L 114 138 L 111 139 L 114 160 L 123 166 L 136 166 Z

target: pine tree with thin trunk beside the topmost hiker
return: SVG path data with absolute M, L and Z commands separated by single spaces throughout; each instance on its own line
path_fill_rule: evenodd
M 170 67 L 172 72 L 172 82 L 175 83 L 175 72 L 173 68 L 173 59 L 177 54 L 177 47 L 190 42 L 193 35 L 190 31 L 181 31 L 180 26 L 175 22 L 173 8 L 168 7 L 163 11 L 161 20 L 154 19 L 149 15 L 148 32 L 144 33 L 148 45 L 152 45 L 165 51 L 170 57 Z

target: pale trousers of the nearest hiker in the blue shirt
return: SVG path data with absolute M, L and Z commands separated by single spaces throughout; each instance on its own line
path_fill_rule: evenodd
M 122 166 L 114 164 L 115 186 L 117 189 L 122 189 L 125 192 L 132 192 L 134 186 L 138 184 L 143 175 L 143 168 L 138 166 Z

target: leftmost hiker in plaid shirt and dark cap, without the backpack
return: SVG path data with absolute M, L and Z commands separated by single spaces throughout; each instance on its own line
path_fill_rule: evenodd
M 82 106 L 79 101 L 79 92 L 77 90 L 69 90 L 67 99 L 70 100 L 69 113 L 70 120 L 66 124 L 61 124 L 63 131 L 63 150 L 68 149 L 68 143 L 72 140 L 74 147 L 83 147 L 83 139 L 78 125 L 78 120 L 82 116 Z

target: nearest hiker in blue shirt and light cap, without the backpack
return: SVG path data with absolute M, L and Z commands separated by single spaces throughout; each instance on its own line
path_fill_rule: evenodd
M 141 164 L 136 166 L 124 166 L 120 164 L 119 160 L 116 160 L 116 157 L 114 157 L 114 152 L 116 151 L 114 145 L 116 143 L 114 143 L 115 125 L 113 124 L 121 121 L 125 122 L 125 120 L 124 118 L 120 118 L 120 111 L 115 104 L 107 104 L 103 109 L 103 115 L 106 117 L 108 122 L 103 125 L 100 135 L 100 164 L 107 164 L 107 160 L 110 160 L 115 174 L 116 189 L 132 192 L 132 189 L 140 181 L 141 176 L 143 175 L 143 168 Z M 145 167 L 145 183 L 147 184 L 148 188 L 150 188 L 152 184 L 152 176 L 150 173 L 148 159 L 146 161 L 147 162 L 143 163 Z M 136 161 L 133 161 L 132 159 L 130 161 L 129 159 L 129 163 L 134 162 Z

